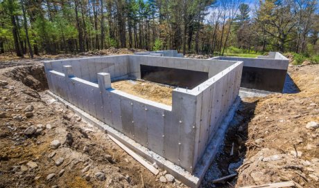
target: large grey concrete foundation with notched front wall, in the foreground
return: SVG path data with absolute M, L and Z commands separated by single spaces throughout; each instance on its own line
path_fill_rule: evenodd
M 236 109 L 243 63 L 119 55 L 50 61 L 44 66 L 52 93 L 100 120 L 96 124 L 133 151 L 198 187 L 227 128 L 227 123 L 221 124 L 226 116 L 231 120 L 227 113 Z M 117 79 L 140 79 L 141 66 L 199 71 L 208 77 L 193 89 L 175 88 L 172 106 L 112 88 Z

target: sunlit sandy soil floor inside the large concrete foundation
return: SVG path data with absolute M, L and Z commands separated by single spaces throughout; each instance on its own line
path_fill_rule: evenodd
M 142 97 L 146 100 L 160 102 L 169 106 L 172 105 L 173 87 L 170 86 L 140 80 L 119 80 L 112 82 L 112 88 Z

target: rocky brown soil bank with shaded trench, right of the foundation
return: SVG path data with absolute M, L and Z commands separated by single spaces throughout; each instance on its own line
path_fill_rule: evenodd
M 205 187 L 288 180 L 319 187 L 319 66 L 289 66 L 288 72 L 300 92 L 243 99 Z M 238 176 L 212 184 L 232 173 Z

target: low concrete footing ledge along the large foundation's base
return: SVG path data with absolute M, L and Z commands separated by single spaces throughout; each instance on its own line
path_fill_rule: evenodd
M 173 164 L 173 162 L 170 162 L 169 160 L 166 160 L 165 158 L 157 155 L 153 151 L 148 150 L 146 147 L 141 146 L 141 144 L 128 138 L 126 135 L 123 135 L 123 133 L 120 133 L 119 131 L 113 129 L 111 126 L 108 126 L 107 124 L 97 120 L 92 115 L 89 115 L 85 111 L 78 109 L 78 107 L 67 102 L 66 100 L 63 100 L 61 97 L 53 94 L 51 91 L 46 92 L 49 93 L 49 95 L 51 95 L 52 97 L 54 97 L 56 100 L 62 102 L 62 104 L 68 106 L 69 109 L 74 111 L 74 113 L 79 115 L 86 122 L 89 122 L 94 126 L 97 126 L 102 131 L 105 131 L 105 133 L 112 135 L 122 144 L 126 145 L 126 147 L 130 148 L 139 156 L 148 160 L 150 164 L 153 164 L 155 162 L 157 166 L 160 167 L 160 169 L 165 169 L 168 173 L 171 173 L 171 175 L 173 175 L 177 180 L 180 180 L 182 183 L 184 183 L 184 185 L 187 185 L 189 187 L 200 186 L 200 182 L 202 181 L 202 178 L 204 178 L 205 173 L 209 168 L 209 165 L 218 153 L 218 148 L 223 143 L 223 139 L 225 138 L 225 133 L 227 131 L 228 125 L 234 117 L 234 113 L 236 112 L 236 109 L 238 108 L 239 103 L 241 102 L 240 97 L 236 97 L 234 104 L 232 104 L 232 106 L 230 107 L 230 111 L 228 111 L 228 113 L 225 115 L 223 122 L 219 126 L 212 140 L 207 145 L 202 159 L 198 162 L 196 169 L 194 169 L 194 173 L 189 173 L 188 171 L 182 169 L 182 167 Z

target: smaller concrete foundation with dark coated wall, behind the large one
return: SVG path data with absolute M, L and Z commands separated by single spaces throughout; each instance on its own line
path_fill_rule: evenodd
M 280 53 L 270 52 L 268 56 L 257 58 L 213 57 L 229 61 L 243 62 L 241 87 L 261 91 L 282 93 L 289 60 Z

